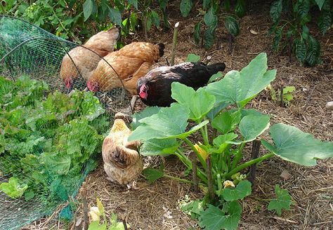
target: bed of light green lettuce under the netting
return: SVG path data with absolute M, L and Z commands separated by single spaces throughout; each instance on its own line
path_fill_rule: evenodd
M 0 190 L 47 204 L 67 201 L 96 167 L 109 122 L 92 93 L 48 92 L 46 83 L 0 77 Z M 40 197 L 39 197 L 40 198 Z

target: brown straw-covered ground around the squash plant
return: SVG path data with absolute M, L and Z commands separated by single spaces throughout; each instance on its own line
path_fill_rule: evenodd
M 177 21 L 181 22 L 176 63 L 185 61 L 188 53 L 195 53 L 202 58 L 210 55 L 211 62 L 226 62 L 225 72 L 228 72 L 231 69 L 242 69 L 256 55 L 266 52 L 269 69 L 278 70 L 276 80 L 272 84 L 273 88 L 278 90 L 280 86 L 295 86 L 294 100 L 289 107 L 280 107 L 278 102 L 271 100 L 268 92 L 263 92 L 249 104 L 249 107 L 271 114 L 271 125 L 278 122 L 287 123 L 312 133 L 321 140 L 333 141 L 333 112 L 325 108 L 326 102 L 333 100 L 333 29 L 330 29 L 325 37 L 320 36 L 319 32 L 314 33 L 322 47 L 322 65 L 313 68 L 300 67 L 295 57 L 289 60 L 285 51 L 272 51 L 272 37 L 267 35 L 270 28 L 268 6 L 264 6 L 262 2 L 252 1 L 253 5 L 240 21 L 240 36 L 235 39 L 231 52 L 223 22 L 220 22 L 218 28 L 218 45 L 215 43 L 210 50 L 204 50 L 195 46 L 192 39 L 196 21 L 174 16 L 179 14 L 178 5 L 169 6 L 171 25 Z M 195 13 L 192 15 L 195 16 Z M 250 29 L 258 34 L 250 33 Z M 312 31 L 315 32 L 315 26 Z M 170 60 L 172 29 L 169 32 L 152 29 L 149 34 L 153 37 L 150 41 L 166 44 L 164 57 Z M 143 41 L 143 34 L 140 32 L 134 40 Z M 158 63 L 165 64 L 163 58 Z M 137 109 L 142 107 L 141 102 L 137 102 Z M 264 154 L 263 148 L 261 154 Z M 176 158 L 166 158 L 165 163 L 166 172 L 170 175 L 183 175 L 183 165 Z M 280 177 L 283 170 L 292 175 L 289 180 Z M 261 163 L 257 168 L 254 191 L 242 201 L 240 229 L 333 229 L 332 176 L 333 159 L 318 161 L 315 167 L 302 167 L 282 161 L 278 157 Z M 140 177 L 139 189 L 126 191 L 110 184 L 105 177 L 100 163 L 100 167 L 86 178 L 89 207 L 96 205 L 96 198 L 100 198 L 107 213 L 117 213 L 120 219 L 125 219 L 131 225 L 131 229 L 199 229 L 195 220 L 178 209 L 178 200 L 185 195 L 190 198 L 202 196 L 195 194 L 188 184 L 169 179 L 148 184 Z M 267 210 L 268 199 L 274 197 L 275 184 L 287 189 L 294 200 L 291 210 L 282 211 L 282 217 Z M 80 206 L 75 220 L 82 218 L 82 213 Z M 41 219 L 27 226 L 27 229 L 61 229 L 58 224 L 45 224 L 45 219 Z M 67 227 L 74 229 L 73 224 Z

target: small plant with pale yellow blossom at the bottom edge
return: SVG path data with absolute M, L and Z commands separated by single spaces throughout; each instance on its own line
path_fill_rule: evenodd
M 89 212 L 91 217 L 91 223 L 89 224 L 88 230 L 124 230 L 124 224 L 117 221 L 117 215 L 112 213 L 109 222 L 105 215 L 105 208 L 100 200 L 96 199 L 97 207 L 91 207 Z M 101 219 L 102 217 L 103 219 Z M 129 228 L 129 224 L 126 224 L 126 229 Z

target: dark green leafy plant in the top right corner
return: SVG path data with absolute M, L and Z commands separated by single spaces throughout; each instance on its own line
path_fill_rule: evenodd
M 274 33 L 273 48 L 278 51 L 281 45 L 282 34 L 287 35 L 289 54 L 294 53 L 301 64 L 310 67 L 321 63 L 320 43 L 310 34 L 308 22 L 311 21 L 311 10 L 319 9 L 320 15 L 317 19 L 318 27 L 322 34 L 332 23 L 332 1 L 329 0 L 276 0 L 270 6 L 270 18 L 273 26 L 270 33 Z M 283 17 L 286 14 L 287 17 Z

